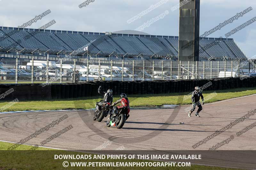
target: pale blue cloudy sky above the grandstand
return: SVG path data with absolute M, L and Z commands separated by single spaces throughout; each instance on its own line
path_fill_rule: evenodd
M 162 5 L 144 12 L 133 22 L 128 21 L 159 2 L 163 2 Z M 83 3 L 86 6 L 80 5 Z M 54 19 L 56 23 L 48 29 L 115 32 L 136 30 L 141 26 L 142 32 L 151 35 L 178 36 L 179 10 L 173 10 L 178 4 L 179 0 L 88 0 L 87 2 L 84 0 L 0 0 L 0 26 L 18 27 L 44 11 L 51 10 L 51 13 L 27 28 L 39 28 Z M 253 10 L 207 37 L 225 38 L 226 33 L 256 17 L 256 1 L 201 0 L 200 35 L 249 7 Z M 162 18 L 152 23 L 148 22 L 157 16 L 162 16 Z M 256 55 L 256 22 L 228 38 L 233 38 L 247 57 Z

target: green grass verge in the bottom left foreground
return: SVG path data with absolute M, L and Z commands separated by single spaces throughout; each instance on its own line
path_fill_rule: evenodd
M 232 168 L 221 168 L 221 167 L 213 167 L 213 166 L 199 166 L 199 165 L 191 165 L 191 167 L 76 167 L 71 168 L 64 168 L 62 166 L 63 161 L 68 162 L 152 162 L 148 160 L 139 160 L 139 159 L 91 159 L 91 160 L 65 160 L 65 159 L 54 159 L 54 155 L 60 154 L 69 154 L 69 155 L 88 155 L 88 153 L 81 153 L 81 152 L 71 152 L 71 151 L 60 151 L 60 150 L 53 150 L 47 148 L 39 147 L 36 151 L 28 151 L 32 148 L 32 146 L 28 145 L 20 145 L 15 151 L 3 151 L 7 150 L 11 145 L 11 143 L 0 142 L 0 169 L 95 169 L 95 170 L 142 170 L 142 169 L 154 169 L 154 170 L 162 170 L 162 169 L 171 169 L 171 170 L 237 170 Z M 93 158 L 93 154 L 92 158 Z

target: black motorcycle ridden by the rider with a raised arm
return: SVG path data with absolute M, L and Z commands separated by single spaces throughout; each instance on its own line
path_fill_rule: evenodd
M 96 104 L 96 107 L 95 107 L 95 110 L 94 110 L 93 120 L 94 121 L 97 120 L 98 122 L 101 122 L 104 119 L 104 117 L 107 117 L 109 112 L 111 112 L 111 110 L 109 109 L 109 106 L 111 104 L 110 103 L 105 103 L 102 107 L 100 107 L 98 105 L 98 103 Z

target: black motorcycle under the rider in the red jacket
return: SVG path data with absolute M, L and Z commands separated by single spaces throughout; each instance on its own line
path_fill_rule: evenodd
M 126 121 L 125 113 L 127 111 L 127 107 L 122 107 L 120 109 L 113 107 L 112 112 L 110 113 L 107 120 L 107 127 L 115 126 L 117 129 L 121 129 L 124 126 L 124 122 Z

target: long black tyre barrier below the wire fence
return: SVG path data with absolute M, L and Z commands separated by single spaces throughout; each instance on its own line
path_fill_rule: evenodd
M 156 81 L 93 81 L 84 83 L 66 84 L 0 84 L 0 100 L 48 100 L 48 99 L 68 99 L 79 97 L 100 96 L 98 88 L 102 90 L 113 90 L 114 96 L 121 93 L 128 95 L 136 94 L 168 94 L 180 92 L 192 92 L 195 86 L 203 87 L 212 82 L 204 91 L 218 91 L 234 88 L 256 87 L 256 77 L 245 79 L 236 78 L 212 78 L 194 80 L 156 80 Z M 6 91 L 14 91 L 4 95 Z

